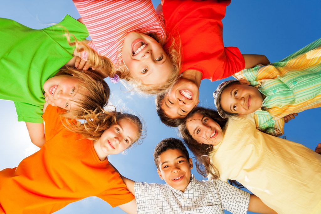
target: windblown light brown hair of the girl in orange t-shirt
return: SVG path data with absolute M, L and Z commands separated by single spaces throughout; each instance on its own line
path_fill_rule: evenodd
M 89 140 L 99 140 L 105 130 L 110 126 L 117 124 L 117 121 L 122 119 L 133 122 L 138 128 L 137 137 L 136 139 L 133 139 L 134 142 L 131 146 L 145 136 L 143 134 L 143 124 L 139 117 L 135 115 L 117 112 L 116 109 L 115 111 L 108 112 L 103 108 L 97 108 L 93 111 L 83 109 L 82 112 L 82 116 L 69 117 L 62 121 L 68 130 L 81 134 L 84 138 Z M 83 123 L 80 120 L 82 120 Z

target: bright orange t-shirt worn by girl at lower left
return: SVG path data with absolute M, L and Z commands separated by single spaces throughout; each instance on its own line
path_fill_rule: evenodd
M 0 171 L 0 213 L 52 213 L 89 196 L 112 207 L 134 199 L 108 160 L 100 161 L 93 142 L 63 126 L 61 112 L 49 105 L 46 143 L 18 167 Z

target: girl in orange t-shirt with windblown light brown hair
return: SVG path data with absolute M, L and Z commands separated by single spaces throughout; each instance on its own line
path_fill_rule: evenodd
M 90 196 L 136 213 L 131 207 L 134 196 L 107 156 L 124 151 L 140 138 L 139 118 L 100 111 L 92 113 L 92 119 L 84 118 L 85 125 L 66 128 L 61 113 L 64 110 L 48 105 L 43 115 L 46 143 L 18 167 L 0 171 L 0 213 L 52 213 Z

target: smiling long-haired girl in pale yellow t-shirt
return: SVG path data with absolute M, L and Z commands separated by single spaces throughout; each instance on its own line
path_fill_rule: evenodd
M 279 214 L 321 210 L 321 156 L 260 132 L 253 114 L 223 119 L 196 107 L 179 131 L 203 175 L 238 181 Z

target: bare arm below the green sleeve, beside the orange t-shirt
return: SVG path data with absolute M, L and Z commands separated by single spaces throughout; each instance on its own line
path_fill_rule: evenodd
M 46 141 L 45 127 L 43 123 L 26 122 L 26 126 L 29 132 L 31 142 L 36 146 L 41 147 Z

